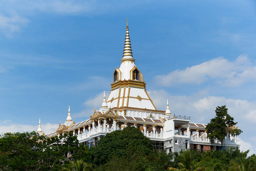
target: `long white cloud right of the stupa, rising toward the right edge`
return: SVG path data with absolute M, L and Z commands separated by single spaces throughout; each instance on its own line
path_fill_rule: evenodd
M 162 86 L 177 84 L 202 84 L 208 80 L 217 80 L 218 84 L 227 87 L 237 87 L 246 82 L 255 82 L 256 65 L 245 55 L 230 62 L 219 57 L 185 70 L 175 70 L 167 75 L 155 76 L 156 82 Z

